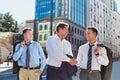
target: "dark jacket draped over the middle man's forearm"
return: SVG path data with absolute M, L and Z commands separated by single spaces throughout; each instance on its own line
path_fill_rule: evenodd
M 73 58 L 72 56 L 67 55 L 69 58 Z M 58 69 L 58 75 L 61 80 L 68 80 L 72 78 L 72 76 L 77 72 L 76 66 L 71 66 L 68 62 L 62 62 L 61 67 Z

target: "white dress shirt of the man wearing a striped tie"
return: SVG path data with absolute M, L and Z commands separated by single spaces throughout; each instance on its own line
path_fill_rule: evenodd
M 91 63 L 91 70 L 99 70 L 101 65 L 107 66 L 109 63 L 106 49 L 100 47 L 99 56 L 95 55 L 95 48 L 97 47 L 97 42 L 94 43 L 92 47 L 92 63 Z M 89 50 L 89 42 L 80 46 L 77 56 L 77 65 L 80 66 L 82 69 L 87 69 L 87 61 L 88 61 L 88 50 Z

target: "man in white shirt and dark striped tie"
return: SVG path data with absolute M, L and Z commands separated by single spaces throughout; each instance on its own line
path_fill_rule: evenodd
M 81 69 L 80 80 L 101 80 L 101 65 L 107 66 L 109 63 L 106 49 L 97 46 L 97 35 L 96 28 L 88 27 L 86 30 L 88 42 L 79 47 L 77 65 Z

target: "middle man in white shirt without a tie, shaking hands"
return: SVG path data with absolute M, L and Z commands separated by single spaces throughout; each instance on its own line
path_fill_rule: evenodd
M 47 80 L 71 80 L 72 77 L 66 77 L 59 71 L 62 62 L 75 65 L 76 60 L 69 58 L 67 55 L 73 56 L 71 44 L 65 39 L 68 34 L 69 25 L 60 22 L 56 27 L 56 34 L 50 36 L 46 43 L 47 58 Z M 66 72 L 65 70 L 62 70 Z M 62 77 L 61 77 L 62 76 Z

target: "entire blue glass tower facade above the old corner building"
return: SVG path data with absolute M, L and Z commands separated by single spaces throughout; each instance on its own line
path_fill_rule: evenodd
M 53 0 L 53 19 L 67 18 L 85 27 L 86 0 Z M 36 0 L 36 19 L 41 20 L 50 16 L 51 0 Z

